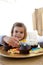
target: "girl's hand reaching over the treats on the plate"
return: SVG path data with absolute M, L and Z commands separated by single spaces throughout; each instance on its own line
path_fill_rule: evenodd
M 3 38 L 3 41 L 5 43 L 7 43 L 9 46 L 12 46 L 12 47 L 18 47 L 19 46 L 19 40 L 15 37 L 7 37 L 5 36 Z

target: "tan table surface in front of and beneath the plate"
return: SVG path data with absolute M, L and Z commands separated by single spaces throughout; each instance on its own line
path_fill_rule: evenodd
M 0 55 L 0 65 L 43 65 L 43 55 L 24 59 L 6 58 Z

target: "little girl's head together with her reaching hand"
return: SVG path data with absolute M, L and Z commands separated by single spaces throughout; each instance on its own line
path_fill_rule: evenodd
M 26 41 L 27 31 L 23 23 L 16 22 L 11 29 L 11 37 L 5 36 L 3 41 L 11 47 L 18 47 L 19 41 Z M 3 43 L 3 44 L 4 44 Z

